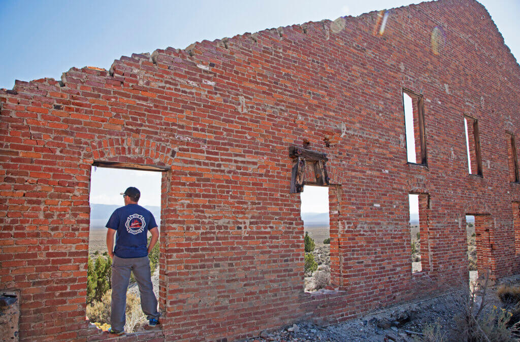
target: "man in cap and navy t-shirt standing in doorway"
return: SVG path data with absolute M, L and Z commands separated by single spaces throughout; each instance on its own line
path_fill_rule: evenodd
M 157 223 L 150 211 L 137 204 L 141 196 L 137 188 L 129 187 L 121 194 L 125 205 L 115 209 L 106 226 L 108 254 L 113 260 L 111 327 L 108 332 L 115 335 L 124 334 L 126 291 L 131 272 L 134 272 L 139 286 L 141 309 L 149 320 L 148 326 L 154 327 L 159 324 L 160 316 L 157 311 L 157 298 L 153 293 L 148 259 L 148 254 L 159 239 Z M 148 231 L 152 238 L 147 246 Z

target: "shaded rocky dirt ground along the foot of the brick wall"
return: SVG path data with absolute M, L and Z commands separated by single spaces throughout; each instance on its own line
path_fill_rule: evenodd
M 520 275 L 504 279 L 501 283 L 520 284 Z M 492 310 L 493 306 L 499 309 L 502 307 L 496 295 L 496 287 L 488 288 L 484 299 L 485 310 Z M 460 339 L 453 336 L 452 329 L 456 324 L 454 317 L 462 312 L 461 298 L 461 292 L 453 291 L 426 300 L 374 311 L 358 319 L 329 326 L 297 322 L 282 330 L 264 331 L 249 341 L 411 342 L 420 340 L 424 328 L 434 325 L 439 327 L 446 341 L 458 341 Z M 480 301 L 482 298 L 477 297 L 476 302 Z

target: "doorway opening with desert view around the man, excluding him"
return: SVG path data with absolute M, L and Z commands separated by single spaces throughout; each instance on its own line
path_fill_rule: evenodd
M 110 325 L 110 317 L 107 317 L 102 311 L 110 312 L 112 291 L 112 260 L 108 256 L 106 243 L 107 228 L 105 225 L 114 210 L 124 206 L 124 199 L 120 193 L 124 192 L 128 187 L 139 189 L 141 196 L 138 204 L 153 214 L 158 229 L 161 229 L 161 178 L 163 173 L 138 170 L 135 164 L 129 165 L 131 165 L 129 168 L 124 168 L 124 164 L 119 165 L 118 168 L 92 166 L 90 170 L 87 318 L 90 320 L 90 323 L 94 323 L 102 330 L 107 330 Z M 151 234 L 148 231 L 148 242 L 150 237 Z M 153 291 L 158 300 L 160 240 L 161 238 L 148 255 Z M 143 325 L 141 323 L 148 321 L 141 310 L 139 290 L 133 273 L 126 294 L 126 305 L 126 325 L 124 330 L 126 333 L 136 332 Z

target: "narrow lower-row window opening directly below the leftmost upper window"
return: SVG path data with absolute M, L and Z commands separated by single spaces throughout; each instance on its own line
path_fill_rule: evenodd
M 430 195 L 409 194 L 412 273 L 430 270 L 428 248 Z

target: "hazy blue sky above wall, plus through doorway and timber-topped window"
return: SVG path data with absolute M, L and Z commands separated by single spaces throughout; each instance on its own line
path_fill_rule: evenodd
M 520 0 L 479 2 L 488 9 L 505 44 L 519 60 Z M 59 80 L 72 67 L 109 69 L 114 59 L 132 53 L 151 53 L 168 46 L 186 48 L 202 40 L 358 16 L 410 3 L 410 0 L 0 0 L 0 88 L 12 89 L 15 80 L 42 77 Z M 387 25 L 391 24 L 390 12 Z M 92 203 L 120 204 L 119 193 L 132 183 L 142 189 L 157 185 L 159 195 L 147 198 L 143 192 L 140 202 L 160 205 L 160 173 L 140 175 L 130 170 L 128 176 L 122 176 L 120 172 L 93 169 Z M 136 184 L 138 180 L 143 181 L 142 185 Z M 313 196 L 321 204 L 314 208 L 306 206 L 306 210 L 323 212 L 323 203 L 328 201 L 326 191 Z

